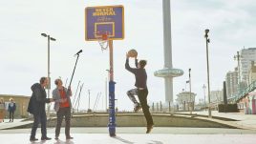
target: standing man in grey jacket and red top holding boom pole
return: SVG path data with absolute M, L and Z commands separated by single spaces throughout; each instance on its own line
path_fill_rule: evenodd
M 54 110 L 57 113 L 57 124 L 55 127 L 55 139 L 58 140 L 58 136 L 60 133 L 60 127 L 63 120 L 63 116 L 65 116 L 65 134 L 66 139 L 73 139 L 70 135 L 70 125 L 71 125 L 71 109 L 72 103 L 71 98 L 72 91 L 69 86 L 69 89 L 62 86 L 62 80 L 55 80 L 56 88 L 53 90 L 53 99 L 54 99 Z

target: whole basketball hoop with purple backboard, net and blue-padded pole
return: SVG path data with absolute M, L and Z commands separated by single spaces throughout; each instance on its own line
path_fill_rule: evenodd
M 109 134 L 116 136 L 113 40 L 124 38 L 124 8 L 96 6 L 85 9 L 85 40 L 98 41 L 101 50 L 109 48 Z

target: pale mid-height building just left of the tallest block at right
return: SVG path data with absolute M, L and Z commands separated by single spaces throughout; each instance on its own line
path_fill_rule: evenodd
M 238 92 L 238 72 L 227 72 L 225 75 L 226 97 L 229 98 Z

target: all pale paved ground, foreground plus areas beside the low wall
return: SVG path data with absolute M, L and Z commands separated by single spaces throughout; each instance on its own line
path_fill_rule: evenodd
M 207 112 L 197 112 L 207 115 Z M 223 121 L 224 123 L 240 125 L 248 129 L 223 129 L 223 128 L 177 128 L 177 127 L 155 127 L 151 134 L 145 134 L 142 127 L 117 127 L 117 136 L 110 137 L 108 128 L 80 127 L 72 128 L 73 140 L 66 141 L 64 129 L 61 129 L 60 140 L 37 141 L 35 144 L 255 144 L 256 143 L 256 115 L 245 115 L 243 113 L 217 113 L 213 116 L 236 119 L 238 121 Z M 7 121 L 7 120 L 5 120 Z M 1 144 L 23 144 L 29 141 L 31 129 L 11 129 L 31 123 L 15 119 L 13 123 L 0 123 Z M 40 138 L 40 128 L 37 137 Z M 54 128 L 48 128 L 48 136 L 54 136 Z

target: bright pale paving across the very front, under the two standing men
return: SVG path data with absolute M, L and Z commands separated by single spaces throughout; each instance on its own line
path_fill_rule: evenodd
M 53 136 L 50 134 L 49 136 Z M 1 144 L 255 144 L 253 134 L 73 134 L 75 139 L 30 142 L 28 134 L 0 134 Z

